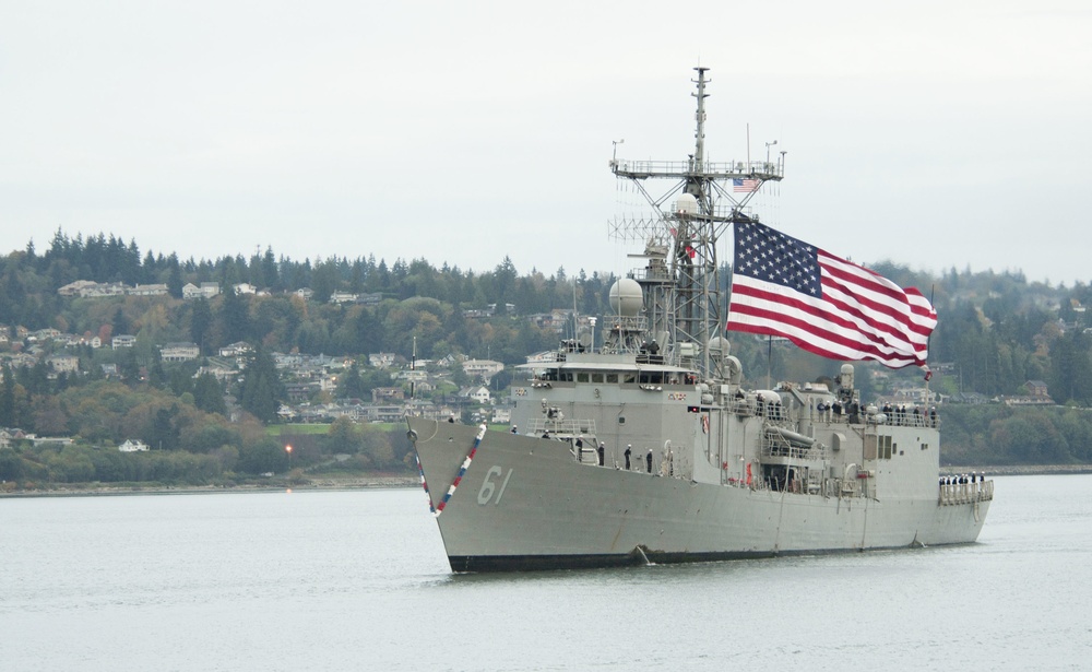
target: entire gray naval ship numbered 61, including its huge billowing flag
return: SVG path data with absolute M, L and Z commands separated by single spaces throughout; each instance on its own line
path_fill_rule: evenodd
M 993 481 L 942 479 L 936 411 L 867 403 L 848 363 L 927 372 L 931 305 L 760 222 L 750 198 L 783 178 L 785 155 L 708 162 L 710 80 L 695 70 L 693 154 L 630 162 L 615 143 L 610 169 L 653 215 L 610 227 L 645 245 L 601 331 L 520 367 L 508 431 L 406 418 L 454 571 L 959 544 L 982 529 Z M 657 179 L 666 194 L 650 191 Z M 755 389 L 729 333 L 846 363 L 826 382 Z

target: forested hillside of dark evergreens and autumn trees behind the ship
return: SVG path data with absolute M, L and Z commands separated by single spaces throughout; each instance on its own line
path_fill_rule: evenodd
M 918 287 L 937 307 L 940 322 L 930 343 L 937 375 L 931 390 L 941 394 L 950 455 L 986 463 L 1092 459 L 1092 421 L 1083 411 L 1092 406 L 1092 318 L 1085 311 L 1092 287 L 1051 286 L 1010 272 L 951 269 L 933 276 L 889 262 L 873 268 L 903 286 Z M 567 335 L 557 331 L 551 311 L 569 311 L 563 314 L 569 317 L 573 308 L 585 316 L 607 314 L 614 280 L 602 270 L 521 272 L 507 260 L 495 269 L 474 271 L 435 268 L 424 259 L 396 259 L 390 264 L 375 257 L 295 260 L 272 249 L 249 258 L 181 260 L 175 255 L 142 255 L 135 241 L 126 244 L 114 236 L 83 239 L 58 232 L 44 251 L 28 244 L 0 257 L 0 427 L 68 436 L 75 444 L 51 448 L 56 452 L 51 458 L 40 451 L 22 457 L 0 452 L 0 479 L 33 474 L 39 480 L 126 480 L 138 472 L 100 469 L 80 451 L 130 437 L 164 451 L 202 456 L 193 458 L 200 464 L 191 464 L 187 472 L 195 470 L 204 474 L 201 479 L 221 478 L 210 474 L 224 472 L 283 471 L 287 467 L 278 462 L 285 457 L 283 440 L 271 439 L 262 428 L 277 422 L 277 404 L 286 399 L 272 353 L 323 354 L 352 362 L 349 374 L 329 397 L 355 397 L 397 385 L 390 373 L 369 367 L 367 355 L 385 352 L 410 358 L 415 344 L 418 358 L 461 355 L 511 366 Z M 76 281 L 165 285 L 165 292 L 111 296 L 59 292 Z M 183 298 L 183 288 L 202 283 L 214 283 L 219 291 L 212 297 Z M 237 285 L 253 293 L 233 291 Z M 339 293 L 367 300 L 337 300 Z M 69 337 L 36 335 L 46 332 Z M 109 347 L 119 334 L 134 337 L 132 346 Z M 728 337 L 751 385 L 764 386 L 767 378 L 815 380 L 838 370 L 838 363 L 779 342 Z M 164 361 L 161 349 L 176 342 L 197 344 L 200 357 L 181 364 Z M 240 342 L 253 349 L 244 375 L 224 381 L 199 373 L 221 349 Z M 78 362 L 58 369 L 50 357 L 59 354 L 73 355 Z M 922 385 L 916 369 L 890 372 L 859 364 L 858 372 L 865 399 Z M 498 379 L 510 378 L 511 372 L 506 372 Z M 458 370 L 451 381 L 467 382 Z M 1042 386 L 1051 402 L 1072 410 L 1045 404 L 1011 408 L 1020 398 L 1036 403 L 1047 399 Z M 980 402 L 983 405 L 968 405 Z M 242 415 L 233 414 L 232 408 Z M 301 438 L 296 465 L 314 467 L 347 451 L 360 456 L 354 462 L 358 467 L 405 468 L 407 447 L 400 444 L 396 432 L 390 436 L 359 427 L 337 432 Z M 82 467 L 50 471 L 64 451 Z M 174 473 L 162 461 L 183 458 L 156 459 Z

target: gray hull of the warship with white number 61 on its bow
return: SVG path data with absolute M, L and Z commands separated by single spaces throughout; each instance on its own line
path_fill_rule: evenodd
M 476 427 L 408 418 L 435 509 Z M 985 483 L 978 485 L 986 485 Z M 992 483 L 989 483 L 992 485 Z M 948 503 L 943 503 L 947 493 Z M 553 438 L 488 432 L 437 516 L 451 567 L 490 571 L 685 563 L 974 541 L 989 499 L 839 497 L 589 465 Z

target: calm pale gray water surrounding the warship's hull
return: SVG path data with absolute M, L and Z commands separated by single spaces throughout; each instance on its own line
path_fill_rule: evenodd
M 0 669 L 1092 669 L 1092 476 L 996 497 L 959 547 L 484 576 L 416 488 L 3 499 Z

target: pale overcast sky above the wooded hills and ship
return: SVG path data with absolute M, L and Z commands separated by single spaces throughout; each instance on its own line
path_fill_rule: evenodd
M 700 63 L 707 157 L 787 152 L 763 221 L 1089 283 L 1090 35 L 1087 0 L 8 2 L 0 249 L 625 273 L 612 141 L 685 160 Z

